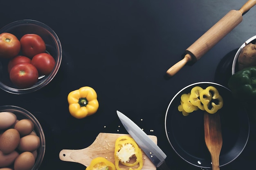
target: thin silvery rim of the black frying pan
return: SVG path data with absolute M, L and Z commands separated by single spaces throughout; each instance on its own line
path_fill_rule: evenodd
M 166 120 L 167 120 L 167 114 L 168 114 L 168 110 L 169 110 L 169 108 L 170 108 L 170 106 L 171 106 L 171 103 L 173 102 L 173 100 L 175 100 L 175 98 L 176 98 L 184 89 L 187 89 L 188 87 L 191 87 L 191 86 L 193 86 L 193 85 L 206 84 L 206 83 L 207 83 L 207 84 L 212 84 L 212 85 L 218 85 L 218 86 L 220 86 L 220 87 L 223 87 L 223 88 L 227 89 L 229 92 L 231 92 L 231 90 L 228 89 L 227 87 L 225 87 L 225 86 L 223 86 L 223 85 L 220 85 L 220 84 L 218 84 L 218 83 L 214 83 L 214 82 L 203 81 L 203 82 L 192 83 L 192 84 L 187 85 L 186 87 L 182 88 L 179 92 L 177 92 L 177 93 L 175 94 L 175 96 L 173 96 L 173 98 L 171 99 L 171 102 L 169 103 L 169 105 L 168 105 L 168 107 L 167 107 L 167 109 L 166 109 L 165 118 L 164 118 L 164 128 L 165 128 L 166 137 L 167 137 L 167 139 L 168 139 L 169 144 L 171 145 L 171 147 L 172 147 L 173 150 L 175 151 L 175 153 L 176 153 L 180 158 L 182 158 L 184 161 L 190 163 L 190 164 L 193 165 L 193 166 L 197 166 L 197 167 L 200 167 L 200 168 L 211 168 L 211 167 L 200 166 L 200 165 L 194 164 L 194 163 L 192 163 L 192 162 L 186 160 L 184 157 L 182 157 L 182 156 L 180 155 L 180 153 L 177 152 L 177 150 L 174 148 L 173 144 L 171 143 L 171 141 L 170 141 L 170 139 L 169 139 L 169 137 L 168 137 L 168 131 L 167 131 Z M 236 155 L 236 157 L 234 157 L 234 159 L 232 159 L 231 161 L 228 161 L 227 163 L 224 163 L 224 164 L 220 165 L 220 167 L 225 166 L 225 165 L 227 165 L 228 163 L 231 163 L 232 161 L 234 161 L 234 160 L 243 152 L 243 150 L 245 149 L 245 146 L 247 145 L 247 142 L 248 142 L 248 139 L 249 139 L 249 131 L 250 131 L 250 124 L 249 124 L 249 118 L 248 118 L 248 116 L 247 116 L 247 120 L 248 120 L 248 133 L 247 133 L 247 139 L 246 139 L 246 141 L 245 141 L 245 144 L 244 144 L 243 148 L 241 148 L 240 152 Z

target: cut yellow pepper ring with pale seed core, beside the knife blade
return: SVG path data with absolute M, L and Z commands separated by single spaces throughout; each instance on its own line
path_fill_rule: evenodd
M 130 158 L 135 155 L 136 161 L 130 163 Z M 139 163 L 139 166 L 135 169 L 129 168 L 129 170 L 141 170 L 143 166 L 142 152 L 134 139 L 128 136 L 121 136 L 117 138 L 115 142 L 115 167 L 117 170 L 122 170 L 119 167 L 119 163 L 124 166 L 133 167 Z

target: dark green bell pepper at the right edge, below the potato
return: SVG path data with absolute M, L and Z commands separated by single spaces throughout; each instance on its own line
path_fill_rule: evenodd
M 228 86 L 235 98 L 242 101 L 256 99 L 256 67 L 245 68 L 233 74 Z

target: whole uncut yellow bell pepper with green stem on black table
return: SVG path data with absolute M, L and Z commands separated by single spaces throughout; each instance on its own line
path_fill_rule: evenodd
M 99 108 L 97 93 L 92 87 L 88 86 L 70 92 L 67 101 L 70 114 L 78 119 L 96 113 Z

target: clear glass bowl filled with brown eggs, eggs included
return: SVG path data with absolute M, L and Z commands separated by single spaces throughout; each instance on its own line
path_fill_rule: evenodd
M 45 155 L 38 120 L 17 106 L 0 106 L 0 168 L 37 170 Z

